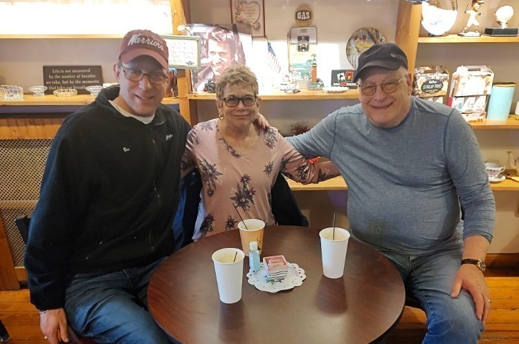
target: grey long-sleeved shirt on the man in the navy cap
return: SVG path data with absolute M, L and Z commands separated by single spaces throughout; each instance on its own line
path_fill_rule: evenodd
M 460 247 L 467 236 L 492 239 L 495 201 L 480 149 L 453 108 L 411 97 L 406 119 L 385 129 L 357 104 L 289 142 L 339 166 L 352 234 L 381 251 L 421 255 Z

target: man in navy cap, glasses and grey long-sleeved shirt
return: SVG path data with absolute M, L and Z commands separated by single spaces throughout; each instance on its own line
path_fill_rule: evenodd
M 426 312 L 424 343 L 476 343 L 491 307 L 483 271 L 495 201 L 471 126 L 411 97 L 407 68 L 399 46 L 375 44 L 358 59 L 361 104 L 289 142 L 339 166 L 352 236 L 400 271 Z

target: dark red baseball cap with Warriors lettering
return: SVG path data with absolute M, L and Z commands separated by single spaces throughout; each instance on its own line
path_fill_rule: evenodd
M 149 30 L 131 30 L 122 37 L 119 58 L 125 64 L 136 57 L 148 55 L 167 69 L 169 50 L 164 39 Z

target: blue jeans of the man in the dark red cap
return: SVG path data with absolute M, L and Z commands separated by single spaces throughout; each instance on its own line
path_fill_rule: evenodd
M 97 343 L 170 343 L 147 310 L 149 279 L 164 259 L 109 274 L 74 276 L 65 300 L 71 327 Z

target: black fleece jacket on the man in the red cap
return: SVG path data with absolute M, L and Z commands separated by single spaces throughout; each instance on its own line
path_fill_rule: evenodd
M 38 309 L 64 307 L 79 273 L 147 265 L 174 247 L 180 162 L 190 126 L 161 105 L 150 124 L 109 103 L 119 87 L 64 120 L 48 154 L 24 264 Z

